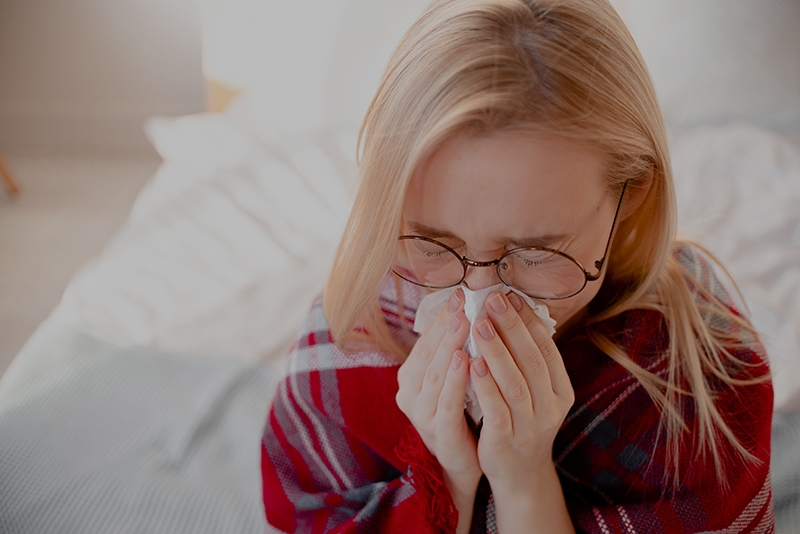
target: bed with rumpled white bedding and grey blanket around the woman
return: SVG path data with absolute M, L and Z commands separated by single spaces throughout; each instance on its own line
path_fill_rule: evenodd
M 800 531 L 800 4 L 751 4 L 615 2 L 664 104 L 681 232 L 725 262 L 765 336 L 788 533 Z M 269 530 L 270 398 L 348 213 L 358 120 L 423 5 L 206 2 L 206 73 L 235 98 L 148 121 L 163 164 L 0 380 L 0 532 Z M 234 47 L 217 50 L 225 28 Z

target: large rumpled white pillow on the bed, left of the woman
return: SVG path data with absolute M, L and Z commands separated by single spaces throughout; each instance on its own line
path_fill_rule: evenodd
M 117 341 L 280 360 L 323 288 L 355 178 L 355 140 L 266 145 L 225 115 L 154 119 L 165 162 L 53 315 Z

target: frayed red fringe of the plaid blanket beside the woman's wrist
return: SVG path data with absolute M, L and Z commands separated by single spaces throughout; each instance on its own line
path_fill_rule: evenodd
M 425 503 L 425 519 L 433 527 L 431 532 L 455 533 L 458 510 L 444 482 L 444 471 L 413 426 L 395 447 L 395 454 L 408 464 L 408 480 Z

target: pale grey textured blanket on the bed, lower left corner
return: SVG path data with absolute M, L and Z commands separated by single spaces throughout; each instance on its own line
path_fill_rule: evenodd
M 254 533 L 279 373 L 42 328 L 0 381 L 0 533 Z

